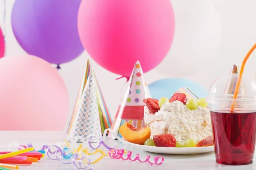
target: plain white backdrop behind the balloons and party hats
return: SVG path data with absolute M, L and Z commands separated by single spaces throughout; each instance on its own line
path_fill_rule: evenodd
M 186 3 L 186 0 L 183 0 Z M 11 11 L 15 0 L 7 0 L 6 4 L 6 55 L 24 55 L 25 51 L 17 43 L 11 26 Z M 221 18 L 221 48 L 218 51 L 218 56 L 222 60 L 213 63 L 207 70 L 200 71 L 197 74 L 190 75 L 187 79 L 191 79 L 200 83 L 205 88 L 209 88 L 212 81 L 223 73 L 228 73 L 233 64 L 241 65 L 244 55 L 256 43 L 256 1 L 255 0 L 211 0 L 217 9 Z M 3 0 L 0 0 L 0 26 L 3 29 Z M 209 51 L 210 53 L 211 51 Z M 207 54 L 206 54 L 207 55 Z M 193 56 L 189 56 L 193 57 Z M 79 90 L 81 77 L 87 63 L 87 59 L 96 73 L 102 93 L 105 97 L 108 108 L 114 118 L 118 105 L 120 94 L 125 79 L 115 80 L 119 75 L 106 71 L 99 66 L 90 56 L 84 51 L 81 56 L 72 62 L 62 64 L 59 73 L 67 85 L 70 98 L 70 114 L 73 110 L 76 95 Z M 196 62 L 196 61 L 195 61 Z M 246 66 L 245 73 L 255 77 L 256 54 L 253 54 Z M 171 68 L 170 68 L 170 71 Z M 158 79 L 166 78 L 157 71 L 150 71 L 145 74 L 145 81 L 149 84 Z

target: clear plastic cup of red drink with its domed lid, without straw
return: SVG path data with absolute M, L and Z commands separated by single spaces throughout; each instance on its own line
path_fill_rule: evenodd
M 219 164 L 253 163 L 256 143 L 256 82 L 243 76 L 238 97 L 233 99 L 233 89 L 238 79 L 238 74 L 219 77 L 212 83 L 207 96 L 215 158 Z M 232 113 L 231 105 L 234 105 Z

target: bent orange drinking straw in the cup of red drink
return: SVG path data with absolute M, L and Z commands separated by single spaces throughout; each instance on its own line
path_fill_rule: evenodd
M 250 57 L 250 55 L 253 53 L 253 51 L 255 49 L 256 49 L 256 44 L 253 45 L 253 47 L 250 49 L 250 51 L 248 51 L 248 53 L 244 57 L 244 60 L 243 60 L 242 65 L 241 65 L 241 70 L 239 72 L 239 79 L 237 80 L 237 83 L 236 83 L 236 88 L 235 88 L 235 91 L 234 91 L 233 99 L 237 99 L 239 88 L 240 88 L 240 84 L 241 84 L 242 75 L 244 73 L 244 66 L 245 66 L 245 64 L 247 62 L 247 59 Z M 235 105 L 236 105 L 235 101 L 233 101 L 233 103 L 232 103 L 232 105 L 230 107 L 230 113 L 234 112 Z

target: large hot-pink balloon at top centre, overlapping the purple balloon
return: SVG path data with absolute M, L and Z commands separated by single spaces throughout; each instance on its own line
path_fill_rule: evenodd
M 170 0 L 82 0 L 78 29 L 85 50 L 99 65 L 130 76 L 137 60 L 147 72 L 166 57 L 174 11 Z

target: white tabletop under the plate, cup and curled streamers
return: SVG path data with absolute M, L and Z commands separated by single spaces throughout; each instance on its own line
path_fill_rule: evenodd
M 36 132 L 36 131 L 0 131 L 0 151 L 8 150 L 10 142 L 17 142 L 17 144 L 26 145 L 32 143 L 35 150 L 41 149 L 44 144 L 52 145 L 55 142 L 63 142 L 63 138 L 67 137 L 64 132 Z M 151 156 L 163 156 L 164 162 L 161 165 L 151 166 L 149 163 L 140 163 L 138 161 L 123 161 L 115 160 L 109 156 L 105 156 L 101 161 L 94 165 L 94 170 L 256 170 L 255 163 L 243 166 L 228 166 L 215 163 L 215 155 L 213 152 L 202 153 L 196 155 L 165 155 L 149 153 L 143 150 L 125 146 L 117 140 L 106 141 L 110 146 L 117 143 L 117 149 L 124 148 L 125 150 L 131 150 L 133 155 L 140 153 L 141 159 L 145 159 L 146 155 Z M 76 144 L 76 147 L 79 144 Z M 89 156 L 91 161 L 98 158 L 100 154 Z M 132 156 L 132 158 L 134 158 Z M 152 159 L 151 159 L 152 160 Z M 73 164 L 63 164 L 59 161 L 52 161 L 47 156 L 41 161 L 33 163 L 29 166 L 19 166 L 20 170 L 76 170 Z

